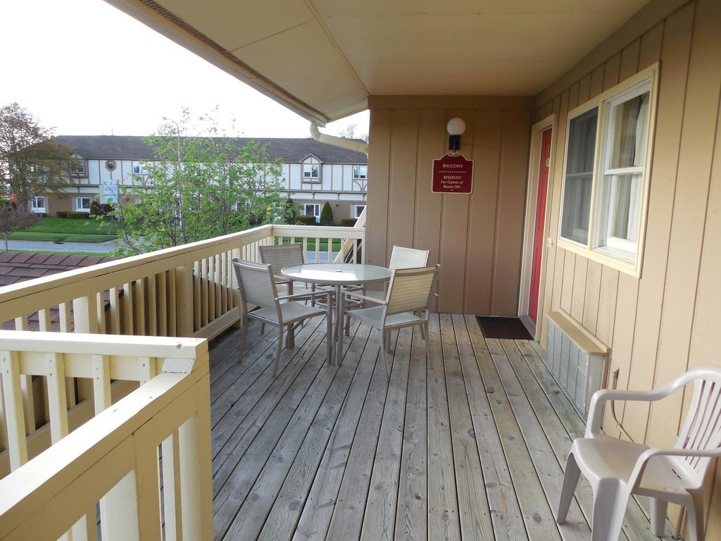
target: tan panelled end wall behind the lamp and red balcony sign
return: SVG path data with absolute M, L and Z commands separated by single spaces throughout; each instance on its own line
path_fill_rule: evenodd
M 393 245 L 430 250 L 439 311 L 516 315 L 532 100 L 378 96 L 369 107 L 366 261 L 386 265 Z M 431 162 L 456 116 L 473 193 L 432 193 Z

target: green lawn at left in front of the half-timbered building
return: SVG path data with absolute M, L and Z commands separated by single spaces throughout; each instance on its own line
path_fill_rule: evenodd
M 118 224 L 111 220 L 74 220 L 46 216 L 40 224 L 9 235 L 13 240 L 46 242 L 106 242 L 118 238 Z

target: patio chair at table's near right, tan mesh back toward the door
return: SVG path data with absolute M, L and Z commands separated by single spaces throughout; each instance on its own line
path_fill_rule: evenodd
M 348 312 L 350 317 L 357 317 L 381 331 L 381 359 L 386 368 L 386 379 L 388 380 L 390 380 L 391 374 L 388 364 L 386 364 L 386 347 L 390 331 L 420 325 L 421 330 L 425 330 L 425 333 L 421 333 L 425 340 L 425 355 L 430 359 L 428 315 L 430 299 L 433 297 L 440 267 L 441 265 L 433 265 L 432 267 L 396 269 L 391 275 L 386 299 L 376 301 L 381 304 L 380 306 Z M 373 300 L 353 291 L 344 293 L 352 299 Z M 423 312 L 423 316 L 417 315 L 417 312 Z

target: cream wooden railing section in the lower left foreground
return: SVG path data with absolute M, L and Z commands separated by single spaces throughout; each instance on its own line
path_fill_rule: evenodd
M 0 370 L 0 539 L 161 540 L 163 524 L 166 540 L 211 539 L 206 340 L 0 331 Z M 53 445 L 25 463 L 32 376 L 48 380 Z M 69 434 L 66 377 L 92 380 L 96 415 Z M 112 404 L 113 380 L 139 387 Z

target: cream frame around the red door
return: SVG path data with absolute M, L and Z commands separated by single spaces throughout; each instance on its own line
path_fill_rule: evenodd
M 526 325 L 528 332 L 539 340 L 541 325 L 536 325 L 531 317 L 528 316 L 528 300 L 531 296 L 531 267 L 533 265 L 534 250 L 534 230 L 536 228 L 536 202 L 538 201 L 538 180 L 541 160 L 541 141 L 543 132 L 548 128 L 551 132 L 551 156 L 548 167 L 548 185 L 546 193 L 546 216 L 544 216 L 544 232 L 545 239 L 549 237 L 549 221 L 551 216 L 554 180 L 554 165 L 556 161 L 556 142 L 557 142 L 557 122 L 558 115 L 553 113 L 543 120 L 531 126 L 531 150 L 528 159 L 528 184 L 526 186 L 526 217 L 523 223 L 523 252 L 521 258 L 521 288 L 518 291 L 518 317 L 521 318 L 523 325 Z M 544 242 L 543 250 L 541 250 L 541 276 L 539 279 L 539 307 L 536 322 L 543 317 L 543 301 L 546 280 L 546 258 L 548 252 L 547 242 Z M 537 327 L 537 328 L 536 328 Z

